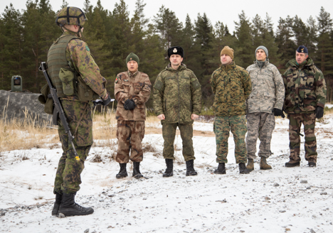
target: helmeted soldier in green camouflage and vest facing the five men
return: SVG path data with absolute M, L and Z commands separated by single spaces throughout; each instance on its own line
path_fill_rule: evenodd
M 48 50 L 48 74 L 58 97 L 63 105 L 66 118 L 73 132 L 73 139 L 78 156 L 68 144 L 60 119 L 58 133 L 63 147 L 60 157 L 53 193 L 56 194 L 52 215 L 63 214 L 90 215 L 91 207 L 82 207 L 75 203 L 75 194 L 80 190 L 80 174 L 85 159 L 93 145 L 93 120 L 90 106 L 92 100 L 102 98 L 103 105 L 110 103 L 110 96 L 105 88 L 106 80 L 100 75 L 90 49 L 80 36 L 87 21 L 85 13 L 77 7 L 65 7 L 58 12 L 56 24 L 63 34 Z M 56 111 L 53 116 L 56 116 Z M 58 116 L 56 116 L 58 117 Z

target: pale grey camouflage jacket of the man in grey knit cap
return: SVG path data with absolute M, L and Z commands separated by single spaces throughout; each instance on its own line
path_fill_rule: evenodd
M 266 60 L 263 68 L 255 61 L 246 68 L 252 82 L 252 92 L 247 101 L 247 113 L 268 112 L 273 108 L 282 109 L 285 86 L 279 70 Z

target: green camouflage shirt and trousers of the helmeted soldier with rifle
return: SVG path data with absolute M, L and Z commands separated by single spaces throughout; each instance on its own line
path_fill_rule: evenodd
M 67 35 L 75 34 L 64 32 L 62 37 Z M 105 98 L 107 95 L 106 80 L 100 75 L 100 69 L 90 54 L 88 45 L 79 38 L 70 40 L 65 55 L 68 63 L 73 65 L 90 89 Z M 58 133 L 63 147 L 63 156 L 58 164 L 53 192 L 75 193 L 80 190 L 80 174 L 84 168 L 85 158 L 93 145 L 93 120 L 89 102 L 80 102 L 76 95 L 61 97 L 60 101 L 70 130 L 75 136 L 73 143 L 78 152 L 78 158 L 75 158 L 73 148 L 68 143 L 68 134 L 65 133 L 63 125 L 58 119 Z

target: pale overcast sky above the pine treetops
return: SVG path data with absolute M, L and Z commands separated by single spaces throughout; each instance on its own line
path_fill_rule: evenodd
M 34 0 L 33 0 L 34 1 Z M 115 8 L 115 3 L 120 2 L 120 0 L 100 0 L 102 6 L 112 11 Z M 132 17 L 135 8 L 136 0 L 125 0 L 130 17 Z M 83 9 L 83 0 L 67 0 L 69 6 L 77 6 Z M 26 0 L 1 0 L 0 1 L 0 12 L 3 13 L 6 6 L 13 4 L 15 9 L 26 9 Z M 50 0 L 53 11 L 58 11 L 62 5 L 62 0 Z M 97 0 L 90 0 L 90 4 L 96 6 Z M 144 0 L 146 7 L 144 13 L 147 18 L 153 19 L 154 16 L 159 11 L 159 8 L 164 5 L 171 11 L 176 13 L 176 17 L 179 18 L 181 22 L 185 22 L 186 14 L 188 13 L 192 23 L 194 19 L 197 18 L 198 13 L 201 15 L 206 13 L 208 18 L 211 20 L 214 26 L 217 21 L 221 21 L 226 24 L 232 33 L 235 28 L 234 21 L 238 21 L 238 14 L 245 11 L 246 16 L 252 19 L 256 14 L 261 18 L 265 18 L 266 12 L 272 17 L 274 23 L 274 28 L 276 29 L 277 21 L 280 17 L 286 18 L 289 16 L 299 16 L 302 21 L 306 22 L 307 18 L 312 16 L 317 19 L 316 16 L 319 15 L 320 8 L 323 6 L 325 11 L 328 11 L 333 18 L 333 1 L 332 0 L 302 0 L 302 1 L 290 1 L 290 0 L 231 0 L 231 1 L 195 1 L 195 0 Z M 89 18 L 88 18 L 89 20 Z

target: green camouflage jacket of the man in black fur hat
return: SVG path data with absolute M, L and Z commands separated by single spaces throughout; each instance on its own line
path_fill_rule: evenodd
M 192 70 L 181 63 L 177 70 L 166 66 L 154 84 L 154 109 L 164 114 L 162 123 L 193 122 L 191 114 L 201 112 L 201 85 Z

